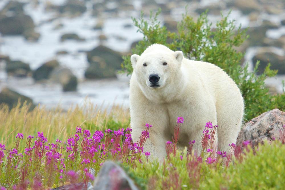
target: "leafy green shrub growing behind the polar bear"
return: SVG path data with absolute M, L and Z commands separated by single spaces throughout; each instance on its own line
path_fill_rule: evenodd
M 228 21 L 228 16 L 223 16 L 217 21 L 215 29 L 211 29 L 207 12 L 202 13 L 197 21 L 189 15 L 183 15 L 178 23 L 178 33 L 171 33 L 157 20 L 160 10 L 153 16 L 150 14 L 150 22 L 143 18 L 133 18 L 134 24 L 139 28 L 144 37 L 139 41 L 133 54 L 142 52 L 151 44 L 163 44 L 171 50 L 181 50 L 189 59 L 201 60 L 213 63 L 227 72 L 239 86 L 245 100 L 245 120 L 257 117 L 261 113 L 274 108 L 285 110 L 285 95 L 270 95 L 264 85 L 267 77 L 276 75 L 276 70 L 270 70 L 270 64 L 262 75 L 257 76 L 257 67 L 253 72 L 247 71 L 248 66 L 241 66 L 244 54 L 237 52 L 234 47 L 240 46 L 249 36 L 247 30 L 239 26 L 236 30 L 234 21 Z M 130 56 L 124 56 L 123 71 L 127 74 L 133 72 Z M 209 76 L 211 73 L 209 73 Z

